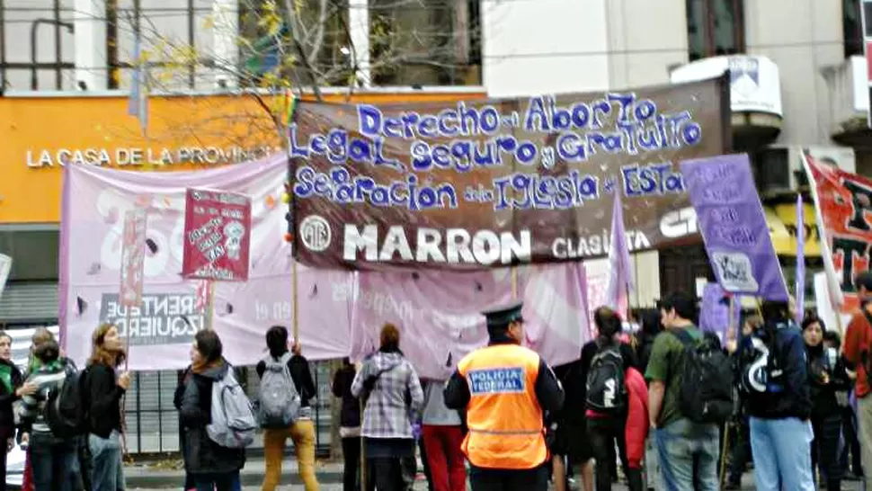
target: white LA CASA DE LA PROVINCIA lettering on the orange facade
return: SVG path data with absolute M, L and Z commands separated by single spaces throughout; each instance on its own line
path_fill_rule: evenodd
M 280 147 L 117 147 L 28 149 L 25 164 L 34 169 L 71 165 L 221 165 L 257 160 L 280 152 Z

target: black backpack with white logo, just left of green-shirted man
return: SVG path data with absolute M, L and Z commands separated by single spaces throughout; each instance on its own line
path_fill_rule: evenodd
M 624 358 L 618 344 L 600 346 L 587 371 L 587 409 L 604 415 L 619 414 L 627 408 Z

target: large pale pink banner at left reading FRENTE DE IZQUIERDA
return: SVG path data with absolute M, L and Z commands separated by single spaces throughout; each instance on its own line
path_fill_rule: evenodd
M 183 173 L 133 173 L 68 165 L 61 237 L 61 326 L 67 353 L 83 362 L 91 333 L 113 322 L 130 345 L 133 370 L 182 368 L 191 340 L 206 324 L 196 306 L 197 281 L 182 279 L 186 188 L 238 192 L 251 197 L 249 278 L 216 286 L 213 326 L 227 359 L 253 363 L 263 356 L 269 326 L 292 318 L 290 245 L 282 240 L 287 209 L 281 202 L 287 158 Z M 118 299 L 124 215 L 147 210 L 143 300 L 127 308 Z M 348 272 L 299 268 L 300 335 L 312 359 L 349 353 L 349 302 L 334 290 L 349 290 Z

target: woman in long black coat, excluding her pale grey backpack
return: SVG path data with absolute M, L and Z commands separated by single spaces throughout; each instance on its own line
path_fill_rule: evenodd
M 221 356 L 215 331 L 203 330 L 191 346 L 191 378 L 185 383 L 179 414 L 184 427 L 184 467 L 198 491 L 238 489 L 245 449 L 229 449 L 212 442 L 206 426 L 212 420 L 212 386 L 227 375 L 230 365 Z

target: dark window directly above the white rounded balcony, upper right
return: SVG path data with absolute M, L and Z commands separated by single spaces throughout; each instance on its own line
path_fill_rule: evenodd
M 690 61 L 745 50 L 743 0 L 687 0 Z

